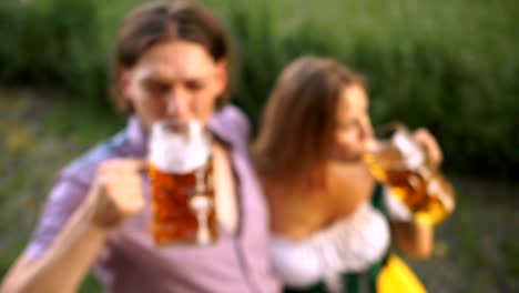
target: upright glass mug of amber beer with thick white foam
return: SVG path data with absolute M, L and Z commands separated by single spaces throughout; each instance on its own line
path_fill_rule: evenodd
M 179 132 L 161 121 L 153 124 L 149 145 L 155 243 L 216 241 L 211 133 L 196 122 Z

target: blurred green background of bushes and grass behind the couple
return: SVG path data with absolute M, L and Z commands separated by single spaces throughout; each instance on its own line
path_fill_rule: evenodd
M 0 1 L 0 279 L 60 168 L 124 125 L 108 102 L 109 60 L 141 2 Z M 319 54 L 367 77 L 375 125 L 429 128 L 459 205 L 432 259 L 411 266 L 430 292 L 519 292 L 519 2 L 204 3 L 236 37 L 234 102 L 255 125 L 281 69 Z M 100 287 L 90 276 L 81 291 Z

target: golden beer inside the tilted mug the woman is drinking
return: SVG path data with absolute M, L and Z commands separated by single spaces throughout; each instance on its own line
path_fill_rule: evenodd
M 406 158 L 409 154 L 400 146 L 386 141 L 368 151 L 364 159 L 372 174 L 390 188 L 396 198 L 409 208 L 416 221 L 428 224 L 444 221 L 455 209 L 452 186 L 426 160 L 409 164 Z

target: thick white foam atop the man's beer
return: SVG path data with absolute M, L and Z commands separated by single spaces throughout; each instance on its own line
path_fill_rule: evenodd
M 185 174 L 205 164 L 211 146 L 211 134 L 197 121 L 191 121 L 185 131 L 159 121 L 152 125 L 147 159 L 162 172 Z

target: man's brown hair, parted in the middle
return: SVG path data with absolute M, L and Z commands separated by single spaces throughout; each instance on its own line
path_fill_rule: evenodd
M 225 26 L 208 9 L 194 1 L 159 0 L 130 11 L 119 31 L 112 59 L 112 98 L 119 110 L 133 112 L 131 103 L 119 92 L 121 72 L 135 65 L 151 47 L 175 40 L 199 43 L 214 61 L 227 62 L 227 88 L 218 97 L 216 107 L 228 101 L 235 81 L 235 52 Z

